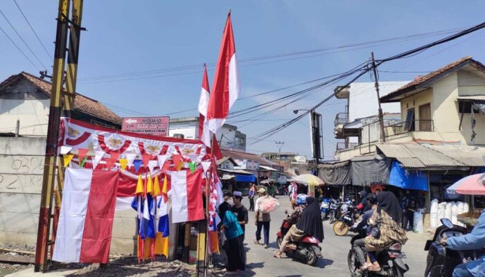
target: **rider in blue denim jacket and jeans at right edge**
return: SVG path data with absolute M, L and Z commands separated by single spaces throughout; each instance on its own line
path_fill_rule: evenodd
M 441 244 L 445 245 L 452 250 L 477 250 L 484 249 L 485 247 L 485 209 L 478 218 L 477 226 L 473 230 L 466 234 L 460 235 L 458 237 L 442 238 Z M 485 256 L 467 262 L 465 264 L 457 265 L 455 270 L 453 270 L 453 277 L 477 277 L 479 274 L 482 276 L 485 274 Z

